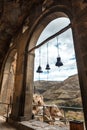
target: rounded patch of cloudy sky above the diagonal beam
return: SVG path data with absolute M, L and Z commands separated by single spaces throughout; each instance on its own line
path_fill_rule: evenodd
M 39 44 L 40 42 L 42 42 L 49 36 L 55 34 L 62 28 L 66 27 L 69 23 L 70 23 L 70 20 L 68 18 L 58 18 L 58 19 L 53 20 L 45 27 L 45 29 L 43 30 L 43 32 L 41 33 L 37 41 L 37 44 Z

